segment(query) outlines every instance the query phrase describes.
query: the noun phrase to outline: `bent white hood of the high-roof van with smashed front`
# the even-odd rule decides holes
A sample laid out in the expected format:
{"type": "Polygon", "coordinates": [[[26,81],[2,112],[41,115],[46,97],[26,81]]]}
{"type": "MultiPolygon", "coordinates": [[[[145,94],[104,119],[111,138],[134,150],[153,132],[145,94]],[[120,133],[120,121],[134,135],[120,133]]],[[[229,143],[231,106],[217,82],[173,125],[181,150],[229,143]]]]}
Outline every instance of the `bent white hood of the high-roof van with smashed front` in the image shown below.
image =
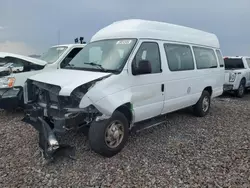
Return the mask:
{"type": "Polygon", "coordinates": [[[69,96],[78,86],[108,75],[111,73],[60,69],[39,73],[29,79],[60,86],[60,95],[69,96]]]}

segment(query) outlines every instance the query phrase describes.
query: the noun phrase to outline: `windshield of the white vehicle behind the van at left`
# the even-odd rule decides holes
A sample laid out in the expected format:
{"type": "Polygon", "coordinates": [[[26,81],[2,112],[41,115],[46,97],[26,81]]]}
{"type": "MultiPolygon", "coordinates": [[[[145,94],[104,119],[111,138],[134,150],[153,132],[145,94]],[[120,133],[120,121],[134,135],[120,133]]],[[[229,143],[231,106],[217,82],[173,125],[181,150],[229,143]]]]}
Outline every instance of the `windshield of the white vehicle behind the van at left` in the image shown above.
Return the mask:
{"type": "Polygon", "coordinates": [[[47,52],[41,55],[40,59],[48,63],[54,63],[59,59],[63,52],[67,49],[67,46],[52,47],[47,52]]]}

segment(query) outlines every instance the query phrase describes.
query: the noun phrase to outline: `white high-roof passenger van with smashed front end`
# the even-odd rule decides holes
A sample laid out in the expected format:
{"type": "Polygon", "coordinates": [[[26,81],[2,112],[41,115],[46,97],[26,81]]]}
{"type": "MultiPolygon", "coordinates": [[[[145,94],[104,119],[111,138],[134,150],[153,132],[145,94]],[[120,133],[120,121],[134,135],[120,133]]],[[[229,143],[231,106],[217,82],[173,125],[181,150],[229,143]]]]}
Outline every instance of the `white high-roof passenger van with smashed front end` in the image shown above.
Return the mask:
{"type": "Polygon", "coordinates": [[[64,69],[28,79],[23,121],[39,131],[48,158],[60,148],[55,133],[84,127],[90,147],[111,157],[133,127],[157,124],[162,115],[189,106],[205,116],[211,98],[223,92],[224,74],[214,34],[118,21],[98,31],[64,69]]]}

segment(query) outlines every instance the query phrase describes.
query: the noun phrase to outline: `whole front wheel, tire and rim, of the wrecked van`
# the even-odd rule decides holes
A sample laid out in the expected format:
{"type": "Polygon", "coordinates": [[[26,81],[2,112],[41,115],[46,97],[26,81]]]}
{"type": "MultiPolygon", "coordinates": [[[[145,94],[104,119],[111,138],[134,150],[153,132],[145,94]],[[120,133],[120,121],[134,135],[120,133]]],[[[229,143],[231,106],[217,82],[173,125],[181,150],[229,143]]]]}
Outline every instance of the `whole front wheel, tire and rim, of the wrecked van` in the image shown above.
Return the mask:
{"type": "Polygon", "coordinates": [[[89,128],[89,144],[93,151],[112,157],[119,153],[128,140],[129,124],[127,118],[119,111],[110,119],[93,122],[89,128]]]}

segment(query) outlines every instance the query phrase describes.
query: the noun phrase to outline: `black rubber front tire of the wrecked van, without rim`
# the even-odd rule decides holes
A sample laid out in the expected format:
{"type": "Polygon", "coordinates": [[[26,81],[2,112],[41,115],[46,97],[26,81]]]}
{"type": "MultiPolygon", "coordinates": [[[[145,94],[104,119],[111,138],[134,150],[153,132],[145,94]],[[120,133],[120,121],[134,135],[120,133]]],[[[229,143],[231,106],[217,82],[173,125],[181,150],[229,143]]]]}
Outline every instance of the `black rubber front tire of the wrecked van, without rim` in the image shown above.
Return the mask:
{"type": "Polygon", "coordinates": [[[117,153],[119,153],[124,148],[128,140],[128,133],[129,133],[129,123],[127,118],[121,112],[115,111],[110,119],[98,122],[94,121],[90,125],[89,128],[90,148],[94,152],[104,157],[112,157],[117,153]],[[124,134],[120,144],[115,148],[111,148],[106,143],[105,135],[107,128],[115,121],[119,121],[121,123],[121,125],[123,126],[124,134]]]}

